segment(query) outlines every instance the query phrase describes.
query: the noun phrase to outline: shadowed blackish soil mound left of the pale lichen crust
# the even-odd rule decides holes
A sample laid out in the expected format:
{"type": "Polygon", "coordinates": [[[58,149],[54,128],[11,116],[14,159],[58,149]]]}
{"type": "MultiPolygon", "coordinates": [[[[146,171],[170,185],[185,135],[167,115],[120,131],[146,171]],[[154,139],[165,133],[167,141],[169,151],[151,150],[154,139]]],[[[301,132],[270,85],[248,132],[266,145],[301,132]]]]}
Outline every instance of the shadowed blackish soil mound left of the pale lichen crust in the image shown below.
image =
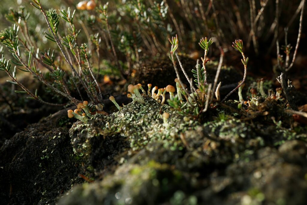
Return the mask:
{"type": "Polygon", "coordinates": [[[73,156],[68,128],[59,128],[66,111],[29,125],[0,149],[2,204],[53,203],[56,196],[80,182],[80,164],[73,156]]]}

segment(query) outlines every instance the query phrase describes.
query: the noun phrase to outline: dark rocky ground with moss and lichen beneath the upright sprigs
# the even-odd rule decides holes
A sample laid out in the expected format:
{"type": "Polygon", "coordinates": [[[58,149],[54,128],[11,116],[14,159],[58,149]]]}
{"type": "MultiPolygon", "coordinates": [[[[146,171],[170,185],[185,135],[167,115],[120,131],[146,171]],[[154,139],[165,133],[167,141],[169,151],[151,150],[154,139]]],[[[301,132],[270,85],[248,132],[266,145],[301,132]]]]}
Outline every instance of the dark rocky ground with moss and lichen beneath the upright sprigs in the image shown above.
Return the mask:
{"type": "MultiPolygon", "coordinates": [[[[154,81],[158,66],[150,68],[154,81]]],[[[238,81],[222,76],[223,85],[238,81]]],[[[233,100],[216,103],[201,120],[150,97],[117,99],[120,111],[106,103],[110,114],[87,123],[69,119],[69,108],[41,107],[18,126],[26,114],[6,106],[2,204],[306,204],[307,128],[285,111],[285,99],[257,97],[242,109],[233,100]]]]}

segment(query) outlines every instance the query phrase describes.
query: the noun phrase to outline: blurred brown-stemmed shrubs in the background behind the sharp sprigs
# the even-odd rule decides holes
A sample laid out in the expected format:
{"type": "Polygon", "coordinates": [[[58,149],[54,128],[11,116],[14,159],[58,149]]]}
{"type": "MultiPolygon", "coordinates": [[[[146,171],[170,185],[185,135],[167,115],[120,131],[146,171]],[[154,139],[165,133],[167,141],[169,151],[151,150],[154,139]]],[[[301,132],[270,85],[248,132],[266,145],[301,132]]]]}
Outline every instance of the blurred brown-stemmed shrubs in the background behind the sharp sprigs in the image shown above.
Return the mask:
{"type": "MultiPolygon", "coordinates": [[[[49,48],[51,51],[55,49],[56,65],[65,70],[67,65],[56,43],[45,37],[47,31],[45,19],[40,10],[31,6],[30,2],[32,1],[0,0],[0,30],[14,24],[7,18],[11,8],[16,12],[24,8],[30,14],[27,27],[37,48],[41,53],[45,53],[49,48]]],[[[72,11],[75,10],[79,2],[41,0],[46,11],[55,9],[58,15],[61,15],[60,10],[67,10],[68,7],[72,11]]],[[[96,9],[107,3],[106,0],[95,0],[95,2],[96,9]]],[[[296,44],[300,5],[301,0],[115,0],[109,1],[107,9],[111,39],[108,37],[106,21],[99,10],[77,10],[74,24],[76,30],[81,30],[78,37],[79,46],[82,43],[88,44],[90,62],[95,73],[100,74],[99,81],[102,81],[101,77],[106,74],[119,78],[121,66],[125,70],[124,74],[133,77],[134,65],[169,53],[168,38],[175,34],[178,34],[180,42],[178,51],[187,53],[193,59],[202,56],[202,50],[198,45],[199,39],[205,36],[212,37],[214,44],[208,54],[211,60],[220,57],[219,48],[222,48],[225,52],[224,64],[235,67],[238,65],[240,72],[242,72],[241,61],[238,59],[240,56],[231,47],[231,42],[242,39],[244,53],[250,56],[249,76],[265,76],[271,75],[276,65],[276,40],[278,39],[281,46],[286,44],[285,29],[288,30],[287,43],[293,47],[296,44]],[[276,18],[276,2],[278,2],[278,18],[276,18]],[[111,49],[111,41],[114,42],[119,64],[111,49]]],[[[304,18],[305,16],[304,14],[304,18]]],[[[306,44],[307,27],[304,24],[305,22],[298,50],[303,58],[298,56],[297,59],[304,59],[306,54],[303,45],[306,44]]],[[[61,18],[58,33],[61,37],[69,33],[69,24],[61,18]]],[[[2,53],[11,58],[6,48],[2,53]]],[[[38,58],[41,57],[41,53],[37,52],[38,58]]],[[[73,63],[77,67],[76,62],[73,63]]],[[[19,73],[22,72],[18,71],[17,75],[19,73]]]]}

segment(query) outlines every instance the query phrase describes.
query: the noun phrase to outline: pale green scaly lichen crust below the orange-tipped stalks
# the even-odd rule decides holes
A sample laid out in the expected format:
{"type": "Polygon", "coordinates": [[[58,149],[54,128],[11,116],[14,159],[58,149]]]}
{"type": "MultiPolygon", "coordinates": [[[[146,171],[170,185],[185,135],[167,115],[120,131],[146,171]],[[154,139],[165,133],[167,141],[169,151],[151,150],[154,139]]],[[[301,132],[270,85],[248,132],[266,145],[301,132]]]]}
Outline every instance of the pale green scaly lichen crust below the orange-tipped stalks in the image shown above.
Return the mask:
{"type": "Polygon", "coordinates": [[[179,146],[180,133],[194,129],[199,123],[151,97],[143,99],[144,104],[132,102],[110,115],[95,115],[87,124],[75,123],[70,130],[75,153],[79,156],[88,155],[91,152],[90,139],[93,137],[115,135],[126,138],[133,151],[156,140],[163,141],[170,149],[182,149],[181,143],[179,146]],[[169,113],[167,128],[163,125],[164,112],[169,113]]]}

